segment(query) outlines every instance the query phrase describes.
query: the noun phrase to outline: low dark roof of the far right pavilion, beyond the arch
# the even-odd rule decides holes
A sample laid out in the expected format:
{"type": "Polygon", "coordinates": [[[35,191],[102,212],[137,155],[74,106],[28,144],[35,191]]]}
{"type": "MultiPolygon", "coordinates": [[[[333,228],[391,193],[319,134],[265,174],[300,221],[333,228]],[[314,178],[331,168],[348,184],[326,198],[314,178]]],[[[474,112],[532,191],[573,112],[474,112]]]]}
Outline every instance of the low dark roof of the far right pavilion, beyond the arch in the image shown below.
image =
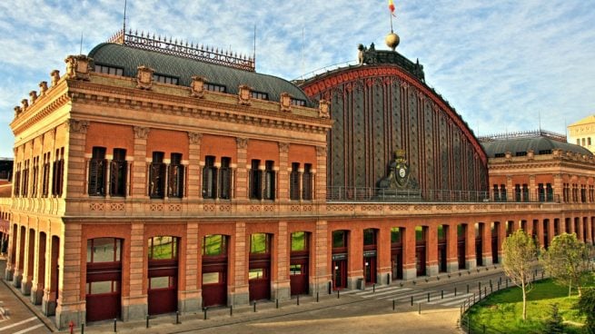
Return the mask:
{"type": "Polygon", "coordinates": [[[587,156],[593,155],[589,150],[579,145],[570,142],[560,142],[543,136],[481,142],[481,145],[483,145],[483,149],[490,158],[495,158],[496,154],[503,154],[506,152],[511,152],[512,156],[515,156],[517,152],[528,152],[529,150],[532,150],[537,155],[540,154],[540,152],[551,152],[556,149],[560,149],[564,152],[580,153],[587,156]]]}

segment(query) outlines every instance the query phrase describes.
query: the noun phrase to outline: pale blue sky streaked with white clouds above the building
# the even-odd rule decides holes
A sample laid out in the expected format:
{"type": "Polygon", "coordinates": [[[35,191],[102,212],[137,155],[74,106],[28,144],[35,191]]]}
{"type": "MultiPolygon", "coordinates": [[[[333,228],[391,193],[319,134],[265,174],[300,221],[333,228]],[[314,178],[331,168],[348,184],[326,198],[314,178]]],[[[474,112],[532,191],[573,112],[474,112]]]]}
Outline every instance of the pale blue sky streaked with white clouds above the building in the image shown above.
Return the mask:
{"type": "MultiPolygon", "coordinates": [[[[477,135],[566,133],[595,113],[592,0],[394,1],[397,51],[477,135]]],[[[0,2],[0,157],[12,157],[13,108],[122,28],[124,0],[0,2]],[[81,38],[81,36],[83,36],[81,38]],[[81,43],[82,39],[82,43],[81,43]]],[[[288,80],[386,49],[388,0],[127,0],[126,26],[253,54],[256,71],[288,80]]]]}

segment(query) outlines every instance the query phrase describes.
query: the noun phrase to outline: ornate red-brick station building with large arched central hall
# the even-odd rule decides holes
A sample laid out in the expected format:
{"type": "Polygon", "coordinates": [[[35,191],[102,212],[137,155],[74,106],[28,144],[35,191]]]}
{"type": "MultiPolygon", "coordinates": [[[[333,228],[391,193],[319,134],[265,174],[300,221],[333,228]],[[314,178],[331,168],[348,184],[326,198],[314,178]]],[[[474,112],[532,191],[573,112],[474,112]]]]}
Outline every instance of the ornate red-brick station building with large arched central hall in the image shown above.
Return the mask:
{"type": "Polygon", "coordinates": [[[15,107],[6,280],[64,329],[595,239],[593,155],[479,140],[421,64],[371,45],[298,87],[253,62],[124,32],[68,56],[15,107]]]}

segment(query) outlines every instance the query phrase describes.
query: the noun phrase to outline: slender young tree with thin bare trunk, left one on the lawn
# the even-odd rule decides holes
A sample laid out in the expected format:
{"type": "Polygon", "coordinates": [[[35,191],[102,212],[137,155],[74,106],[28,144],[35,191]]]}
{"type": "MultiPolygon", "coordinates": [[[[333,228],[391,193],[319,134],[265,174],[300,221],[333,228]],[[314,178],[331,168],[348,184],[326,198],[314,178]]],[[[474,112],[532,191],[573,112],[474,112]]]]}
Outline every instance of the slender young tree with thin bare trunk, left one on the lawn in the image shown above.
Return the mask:
{"type": "Polygon", "coordinates": [[[517,230],[502,242],[502,252],[504,273],[522,290],[522,319],[526,320],[531,264],[537,260],[537,247],[529,234],[517,230]]]}

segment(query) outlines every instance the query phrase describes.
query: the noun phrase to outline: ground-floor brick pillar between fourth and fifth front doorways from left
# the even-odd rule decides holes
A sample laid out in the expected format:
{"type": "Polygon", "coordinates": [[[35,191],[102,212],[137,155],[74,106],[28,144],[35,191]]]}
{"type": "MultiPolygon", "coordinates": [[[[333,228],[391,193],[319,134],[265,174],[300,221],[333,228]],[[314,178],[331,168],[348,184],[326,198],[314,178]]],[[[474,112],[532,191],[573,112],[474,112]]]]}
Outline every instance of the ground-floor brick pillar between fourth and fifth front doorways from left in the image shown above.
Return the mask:
{"type": "Polygon", "coordinates": [[[291,248],[289,238],[291,235],[287,233],[287,221],[279,221],[277,226],[279,229],[277,231],[277,235],[275,236],[277,241],[277,247],[275,250],[277,257],[277,275],[276,280],[272,281],[272,297],[273,299],[285,300],[291,298],[292,296],[289,280],[289,256],[291,248]]]}

